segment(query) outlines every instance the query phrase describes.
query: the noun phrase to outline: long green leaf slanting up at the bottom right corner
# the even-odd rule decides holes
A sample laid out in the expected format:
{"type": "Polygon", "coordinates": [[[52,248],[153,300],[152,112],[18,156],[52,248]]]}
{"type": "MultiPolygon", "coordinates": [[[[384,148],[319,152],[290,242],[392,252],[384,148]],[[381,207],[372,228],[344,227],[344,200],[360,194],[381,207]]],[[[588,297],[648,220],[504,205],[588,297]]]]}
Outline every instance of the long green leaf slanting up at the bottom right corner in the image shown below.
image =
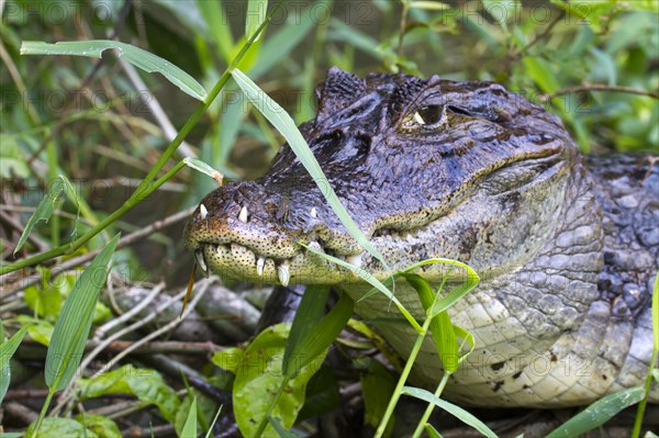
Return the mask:
{"type": "Polygon", "coordinates": [[[608,422],[624,408],[640,402],[644,395],[645,391],[639,386],[610,394],[554,429],[547,435],[547,438],[577,437],[593,430],[608,422]]]}

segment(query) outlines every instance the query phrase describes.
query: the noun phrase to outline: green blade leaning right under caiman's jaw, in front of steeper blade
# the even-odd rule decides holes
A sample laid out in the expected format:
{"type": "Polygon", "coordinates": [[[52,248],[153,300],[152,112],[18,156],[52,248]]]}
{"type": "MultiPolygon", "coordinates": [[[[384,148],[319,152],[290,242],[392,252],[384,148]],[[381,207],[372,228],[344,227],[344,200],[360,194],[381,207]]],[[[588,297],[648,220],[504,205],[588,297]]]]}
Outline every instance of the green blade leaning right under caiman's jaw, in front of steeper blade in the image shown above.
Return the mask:
{"type": "Polygon", "coordinates": [[[327,350],[340,330],[348,324],[354,306],[355,302],[344,293],[334,308],[306,333],[306,336],[290,355],[289,367],[284,372],[287,377],[293,378],[302,368],[327,350]]]}

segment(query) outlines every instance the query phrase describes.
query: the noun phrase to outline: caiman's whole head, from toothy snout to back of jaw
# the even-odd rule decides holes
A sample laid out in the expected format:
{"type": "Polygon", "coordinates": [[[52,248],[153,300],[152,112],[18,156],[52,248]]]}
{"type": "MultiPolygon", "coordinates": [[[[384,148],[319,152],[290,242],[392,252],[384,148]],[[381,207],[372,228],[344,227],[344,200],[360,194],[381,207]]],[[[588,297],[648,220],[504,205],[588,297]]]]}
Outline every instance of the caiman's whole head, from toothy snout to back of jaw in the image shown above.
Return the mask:
{"type": "Polygon", "coordinates": [[[319,113],[300,130],[326,180],[316,184],[283,145],[263,178],[208,194],[185,231],[204,271],[359,281],[304,244],[386,278],[330,209],[327,184],[391,268],[445,257],[481,276],[523,265],[569,202],[579,161],[561,122],[500,85],[332,68],[317,94],[319,113]]]}

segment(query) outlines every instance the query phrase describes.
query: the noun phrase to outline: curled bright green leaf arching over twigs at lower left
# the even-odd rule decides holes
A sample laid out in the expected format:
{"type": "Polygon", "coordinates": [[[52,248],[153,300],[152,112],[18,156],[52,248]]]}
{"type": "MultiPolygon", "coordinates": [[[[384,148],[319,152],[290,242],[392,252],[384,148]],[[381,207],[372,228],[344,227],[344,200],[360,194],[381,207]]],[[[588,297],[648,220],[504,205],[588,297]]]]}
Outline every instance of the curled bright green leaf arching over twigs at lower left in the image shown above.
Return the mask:
{"type": "Polygon", "coordinates": [[[154,370],[124,366],[114,371],[80,379],[80,397],[93,398],[107,394],[131,394],[144,403],[154,404],[168,422],[174,422],[179,398],[163,377],[154,370]]]}

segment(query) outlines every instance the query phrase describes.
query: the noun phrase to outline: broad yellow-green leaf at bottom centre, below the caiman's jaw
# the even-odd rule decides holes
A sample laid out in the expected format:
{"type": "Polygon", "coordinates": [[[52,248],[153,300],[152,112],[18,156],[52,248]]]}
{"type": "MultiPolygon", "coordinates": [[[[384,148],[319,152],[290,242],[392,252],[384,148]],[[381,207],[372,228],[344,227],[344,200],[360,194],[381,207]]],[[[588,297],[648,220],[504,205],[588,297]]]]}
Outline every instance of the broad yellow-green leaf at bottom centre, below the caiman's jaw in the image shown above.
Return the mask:
{"type": "MultiPolygon", "coordinates": [[[[265,418],[270,402],[276,398],[284,381],[281,360],[289,334],[289,324],[278,324],[266,328],[249,344],[241,366],[237,367],[233,389],[234,414],[241,433],[253,437],[261,419],[265,418]]],[[[323,362],[324,355],[299,370],[294,379],[288,381],[278,398],[272,417],[278,417],[284,428],[290,429],[304,405],[306,383],[323,362]]],[[[268,425],[264,436],[273,436],[268,425]]]]}

